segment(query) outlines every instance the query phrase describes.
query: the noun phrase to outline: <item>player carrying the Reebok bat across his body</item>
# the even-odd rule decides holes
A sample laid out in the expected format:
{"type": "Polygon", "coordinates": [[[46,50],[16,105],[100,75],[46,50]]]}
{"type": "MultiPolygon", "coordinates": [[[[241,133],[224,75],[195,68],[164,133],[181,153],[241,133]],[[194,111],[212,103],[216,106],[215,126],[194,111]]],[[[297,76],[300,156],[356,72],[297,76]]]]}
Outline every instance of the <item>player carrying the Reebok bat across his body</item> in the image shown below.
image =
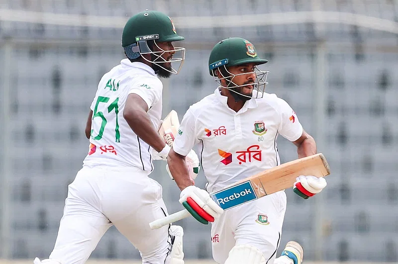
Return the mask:
{"type": "MultiPolygon", "coordinates": [[[[219,87],[188,109],[167,158],[182,190],[180,202],[199,222],[214,221],[212,252],[219,264],[301,264],[303,258],[301,246],[291,241],[276,259],[286,211],[285,191],[224,213],[205,195],[280,165],[278,134],[297,146],[298,158],[316,154],[314,139],[303,130],[289,104],[264,92],[268,72],[257,66],[265,63],[243,38],[217,43],[208,65],[219,87]],[[185,164],[185,156],[196,144],[208,180],[206,191],[192,185],[185,164]]],[[[324,178],[299,176],[294,190],[308,198],[325,186],[324,178]]]]}

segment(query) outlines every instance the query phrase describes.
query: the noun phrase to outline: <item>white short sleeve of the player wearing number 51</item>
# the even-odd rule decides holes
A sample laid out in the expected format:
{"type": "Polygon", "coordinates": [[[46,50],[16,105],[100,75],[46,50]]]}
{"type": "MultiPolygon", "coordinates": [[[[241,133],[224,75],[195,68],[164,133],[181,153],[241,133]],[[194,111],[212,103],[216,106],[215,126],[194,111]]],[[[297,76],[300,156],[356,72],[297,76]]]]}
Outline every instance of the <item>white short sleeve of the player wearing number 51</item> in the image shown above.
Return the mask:
{"type": "Polygon", "coordinates": [[[162,99],[162,90],[163,84],[158,78],[142,78],[132,84],[128,94],[138,94],[146,102],[149,109],[162,99]]]}

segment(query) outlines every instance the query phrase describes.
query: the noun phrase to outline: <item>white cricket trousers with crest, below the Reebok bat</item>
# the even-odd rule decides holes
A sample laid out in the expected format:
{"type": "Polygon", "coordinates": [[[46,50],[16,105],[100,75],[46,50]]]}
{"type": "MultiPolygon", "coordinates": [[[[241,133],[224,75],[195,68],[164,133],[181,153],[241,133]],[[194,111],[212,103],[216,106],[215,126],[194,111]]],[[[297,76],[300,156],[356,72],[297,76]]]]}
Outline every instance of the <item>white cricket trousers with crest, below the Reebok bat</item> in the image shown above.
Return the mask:
{"type": "Polygon", "coordinates": [[[286,193],[279,191],[228,209],[211,226],[213,259],[224,264],[235,245],[258,248],[267,264],[273,264],[282,235],[286,193]]]}

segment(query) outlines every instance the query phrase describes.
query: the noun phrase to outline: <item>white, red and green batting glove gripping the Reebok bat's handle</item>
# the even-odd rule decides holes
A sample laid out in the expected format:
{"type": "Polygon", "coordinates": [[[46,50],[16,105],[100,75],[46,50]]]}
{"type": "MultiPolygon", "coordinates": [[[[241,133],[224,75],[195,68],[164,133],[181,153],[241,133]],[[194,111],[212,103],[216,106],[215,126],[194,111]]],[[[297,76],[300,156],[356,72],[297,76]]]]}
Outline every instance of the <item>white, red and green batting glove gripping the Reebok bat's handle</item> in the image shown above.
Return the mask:
{"type": "Polygon", "coordinates": [[[194,185],[181,191],[179,201],[202,224],[214,222],[224,212],[207,191],[194,185]]]}

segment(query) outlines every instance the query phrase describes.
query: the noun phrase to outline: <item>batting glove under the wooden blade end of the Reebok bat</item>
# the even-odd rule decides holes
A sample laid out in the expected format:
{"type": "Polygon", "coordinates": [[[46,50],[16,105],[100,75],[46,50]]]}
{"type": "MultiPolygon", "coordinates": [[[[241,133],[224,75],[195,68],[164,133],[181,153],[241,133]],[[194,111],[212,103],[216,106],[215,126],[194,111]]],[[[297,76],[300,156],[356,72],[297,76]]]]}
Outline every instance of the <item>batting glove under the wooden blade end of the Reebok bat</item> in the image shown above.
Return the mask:
{"type": "Polygon", "coordinates": [[[327,185],[324,177],[298,176],[293,185],[293,191],[298,196],[308,199],[311,196],[321,192],[327,185]]]}

